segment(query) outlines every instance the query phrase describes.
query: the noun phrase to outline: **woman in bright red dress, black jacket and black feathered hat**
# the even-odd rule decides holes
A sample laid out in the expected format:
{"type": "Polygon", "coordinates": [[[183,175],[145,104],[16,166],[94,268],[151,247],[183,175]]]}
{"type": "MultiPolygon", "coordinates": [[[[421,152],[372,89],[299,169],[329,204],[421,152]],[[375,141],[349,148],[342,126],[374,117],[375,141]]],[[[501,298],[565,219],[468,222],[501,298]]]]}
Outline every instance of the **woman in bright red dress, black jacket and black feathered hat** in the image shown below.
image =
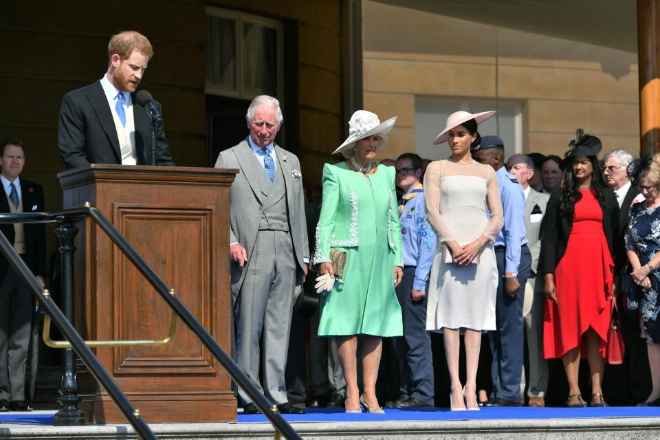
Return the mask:
{"type": "Polygon", "coordinates": [[[580,358],[587,358],[591,372],[591,406],[607,406],[601,384],[615,286],[619,203],[596,158],[600,140],[578,129],[569,145],[564,183],[550,195],[546,211],[543,352],[545,358],[562,358],[570,387],[566,406],[586,406],[577,385],[580,358]]]}

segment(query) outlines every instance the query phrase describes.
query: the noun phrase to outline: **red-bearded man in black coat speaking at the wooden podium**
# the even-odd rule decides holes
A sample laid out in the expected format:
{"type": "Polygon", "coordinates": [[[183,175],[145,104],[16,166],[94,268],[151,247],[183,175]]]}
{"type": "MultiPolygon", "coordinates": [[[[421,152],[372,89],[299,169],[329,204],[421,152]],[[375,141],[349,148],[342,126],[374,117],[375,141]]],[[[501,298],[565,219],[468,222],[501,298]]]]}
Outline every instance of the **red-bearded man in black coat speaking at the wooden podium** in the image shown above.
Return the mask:
{"type": "MultiPolygon", "coordinates": [[[[153,56],[146,36],[126,31],[108,44],[108,70],[62,99],[57,126],[60,153],[67,170],[86,164],[151,164],[151,119],[135,105],[135,90],[153,56]]],[[[160,113],[160,104],[153,102],[160,113]]],[[[162,118],[156,122],[155,160],[174,166],[162,118]]]]}

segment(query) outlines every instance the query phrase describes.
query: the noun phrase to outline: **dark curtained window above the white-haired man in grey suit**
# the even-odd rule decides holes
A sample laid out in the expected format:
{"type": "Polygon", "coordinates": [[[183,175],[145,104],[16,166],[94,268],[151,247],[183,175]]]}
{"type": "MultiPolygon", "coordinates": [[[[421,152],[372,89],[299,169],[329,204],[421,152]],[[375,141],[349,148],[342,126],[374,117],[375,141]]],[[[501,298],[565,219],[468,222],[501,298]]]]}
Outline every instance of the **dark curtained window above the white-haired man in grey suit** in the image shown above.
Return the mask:
{"type": "Polygon", "coordinates": [[[252,100],[283,96],[283,25],[206,8],[206,94],[252,100]]]}

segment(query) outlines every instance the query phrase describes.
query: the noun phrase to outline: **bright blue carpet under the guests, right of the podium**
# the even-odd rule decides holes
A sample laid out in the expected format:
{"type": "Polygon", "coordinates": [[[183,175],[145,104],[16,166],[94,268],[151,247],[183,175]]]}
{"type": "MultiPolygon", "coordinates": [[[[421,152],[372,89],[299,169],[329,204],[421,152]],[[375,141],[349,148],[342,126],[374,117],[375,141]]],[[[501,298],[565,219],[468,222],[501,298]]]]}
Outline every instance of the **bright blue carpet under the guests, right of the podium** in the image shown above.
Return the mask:
{"type": "MultiPolygon", "coordinates": [[[[287,421],[432,421],[477,419],[574,419],[591,417],[660,417],[660,407],[610,406],[608,408],[481,408],[450,411],[449,408],[389,409],[384,415],[347,414],[343,408],[307,408],[307,414],[285,414],[287,421]]],[[[242,415],[238,423],[268,420],[261,414],[242,415]]]]}

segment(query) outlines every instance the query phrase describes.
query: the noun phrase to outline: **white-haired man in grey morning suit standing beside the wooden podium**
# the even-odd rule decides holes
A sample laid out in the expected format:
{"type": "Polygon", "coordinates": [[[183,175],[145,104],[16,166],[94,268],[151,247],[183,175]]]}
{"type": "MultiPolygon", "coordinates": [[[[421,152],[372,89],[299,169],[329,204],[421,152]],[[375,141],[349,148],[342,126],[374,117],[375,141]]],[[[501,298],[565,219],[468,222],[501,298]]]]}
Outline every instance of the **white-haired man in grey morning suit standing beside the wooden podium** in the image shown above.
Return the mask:
{"type": "MultiPolygon", "coordinates": [[[[282,125],[278,100],[257,96],[245,119],[250,135],[215,163],[240,170],[230,191],[236,362],[257,386],[263,365],[265,396],[283,414],[302,414],[287,401],[284,378],[292,307],[309,263],[300,162],[274,142],[282,125]]],[[[239,397],[245,414],[259,412],[240,388],[239,397]]]]}

